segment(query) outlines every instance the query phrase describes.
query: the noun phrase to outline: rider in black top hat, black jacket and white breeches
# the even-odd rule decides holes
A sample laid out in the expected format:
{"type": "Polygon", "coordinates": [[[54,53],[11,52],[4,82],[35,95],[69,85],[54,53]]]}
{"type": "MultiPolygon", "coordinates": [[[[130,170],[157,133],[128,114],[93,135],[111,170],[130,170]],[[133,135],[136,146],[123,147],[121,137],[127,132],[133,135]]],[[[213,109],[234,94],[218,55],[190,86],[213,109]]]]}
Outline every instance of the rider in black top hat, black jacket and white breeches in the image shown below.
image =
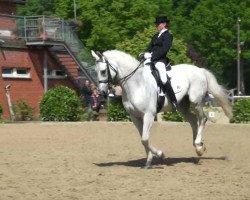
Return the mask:
{"type": "MultiPolygon", "coordinates": [[[[144,53],[144,58],[146,59],[145,64],[151,62],[155,64],[163,85],[163,91],[169,96],[173,110],[176,111],[177,99],[166,74],[166,67],[170,64],[167,53],[173,41],[173,36],[168,31],[169,22],[167,16],[156,17],[155,24],[158,33],[152,37],[146,53],[144,53]]],[[[163,96],[164,94],[161,93],[160,95],[163,96]]]]}

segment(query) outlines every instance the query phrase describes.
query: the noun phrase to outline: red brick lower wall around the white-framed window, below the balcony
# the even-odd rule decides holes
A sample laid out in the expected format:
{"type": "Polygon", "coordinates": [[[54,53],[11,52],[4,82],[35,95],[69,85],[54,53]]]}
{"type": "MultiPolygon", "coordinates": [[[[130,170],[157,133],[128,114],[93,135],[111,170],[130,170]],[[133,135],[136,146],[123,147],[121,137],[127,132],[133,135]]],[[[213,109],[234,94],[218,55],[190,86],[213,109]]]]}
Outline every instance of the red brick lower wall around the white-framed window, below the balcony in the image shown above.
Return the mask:
{"type": "MultiPolygon", "coordinates": [[[[39,102],[44,95],[43,88],[43,51],[40,49],[4,49],[3,57],[0,52],[0,104],[3,106],[3,117],[8,118],[8,105],[5,95],[5,86],[11,84],[12,103],[24,99],[31,107],[36,110],[35,116],[39,116],[39,102]],[[2,67],[25,67],[30,69],[30,79],[3,78],[2,67]]],[[[58,64],[49,56],[48,68],[59,68],[58,64]]],[[[49,89],[58,85],[65,85],[74,88],[68,79],[53,79],[49,81],[49,89]]]]}

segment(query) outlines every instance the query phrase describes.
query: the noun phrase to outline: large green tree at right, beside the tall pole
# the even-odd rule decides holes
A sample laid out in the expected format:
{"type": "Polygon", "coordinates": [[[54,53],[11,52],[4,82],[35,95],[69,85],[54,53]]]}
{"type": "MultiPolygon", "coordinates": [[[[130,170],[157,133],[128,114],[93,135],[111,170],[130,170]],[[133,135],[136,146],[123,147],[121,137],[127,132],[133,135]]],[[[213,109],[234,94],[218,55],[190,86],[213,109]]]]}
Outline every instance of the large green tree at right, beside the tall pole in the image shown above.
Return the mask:
{"type": "MultiPolygon", "coordinates": [[[[203,67],[212,70],[219,81],[229,87],[236,85],[236,20],[242,19],[241,36],[246,41],[249,40],[249,16],[247,1],[206,0],[197,4],[188,15],[189,20],[185,20],[184,39],[201,55],[203,67]]],[[[249,60],[249,49],[243,51],[243,60],[249,60]]]]}

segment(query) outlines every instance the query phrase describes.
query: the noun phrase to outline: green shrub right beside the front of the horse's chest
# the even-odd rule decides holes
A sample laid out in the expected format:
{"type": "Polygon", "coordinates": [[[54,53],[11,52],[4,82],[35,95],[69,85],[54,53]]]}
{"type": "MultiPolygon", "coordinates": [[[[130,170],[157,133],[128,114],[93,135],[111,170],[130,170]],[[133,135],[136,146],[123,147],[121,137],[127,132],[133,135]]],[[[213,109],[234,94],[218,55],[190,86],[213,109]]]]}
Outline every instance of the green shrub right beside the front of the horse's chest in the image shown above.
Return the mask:
{"type": "Polygon", "coordinates": [[[124,109],[121,97],[111,98],[108,102],[108,121],[131,121],[124,109]]]}

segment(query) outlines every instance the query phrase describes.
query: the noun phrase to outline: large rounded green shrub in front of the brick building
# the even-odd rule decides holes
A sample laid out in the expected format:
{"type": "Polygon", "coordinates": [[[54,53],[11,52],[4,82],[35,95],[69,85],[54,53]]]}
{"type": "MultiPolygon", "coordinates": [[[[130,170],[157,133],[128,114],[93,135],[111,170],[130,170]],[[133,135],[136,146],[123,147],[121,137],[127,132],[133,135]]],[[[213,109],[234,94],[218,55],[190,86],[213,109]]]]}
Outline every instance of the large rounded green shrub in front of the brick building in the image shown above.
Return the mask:
{"type": "Polygon", "coordinates": [[[40,102],[40,116],[44,121],[78,121],[81,113],[80,98],[65,86],[50,89],[40,102]]]}

